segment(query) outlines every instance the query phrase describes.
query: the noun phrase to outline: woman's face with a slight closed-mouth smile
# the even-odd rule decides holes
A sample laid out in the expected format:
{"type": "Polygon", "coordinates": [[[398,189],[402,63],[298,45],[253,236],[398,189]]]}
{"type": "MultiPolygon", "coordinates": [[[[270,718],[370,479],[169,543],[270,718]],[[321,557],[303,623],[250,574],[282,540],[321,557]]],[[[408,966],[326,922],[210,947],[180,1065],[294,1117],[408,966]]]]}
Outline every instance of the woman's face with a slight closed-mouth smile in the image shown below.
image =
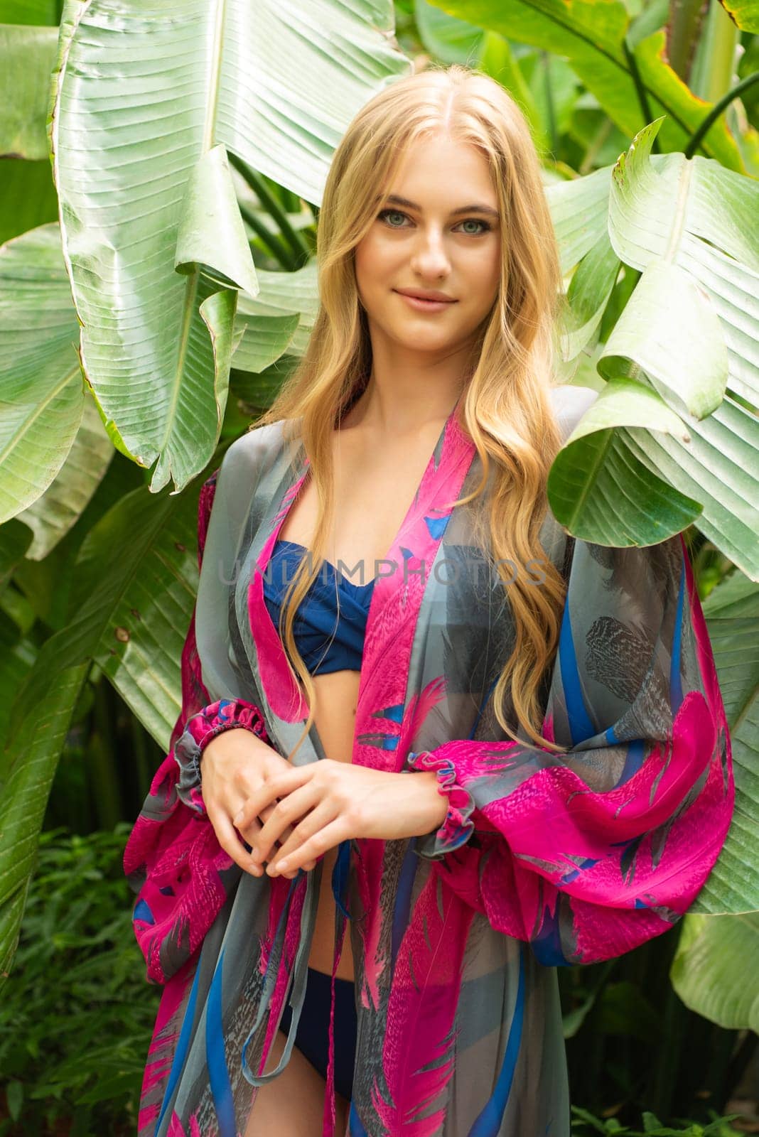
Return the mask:
{"type": "Polygon", "coordinates": [[[373,346],[448,355],[487,316],[501,275],[501,234],[487,161],[436,134],[408,148],[356,247],[356,282],[373,346]],[[444,302],[403,293],[433,291],[444,302]]]}

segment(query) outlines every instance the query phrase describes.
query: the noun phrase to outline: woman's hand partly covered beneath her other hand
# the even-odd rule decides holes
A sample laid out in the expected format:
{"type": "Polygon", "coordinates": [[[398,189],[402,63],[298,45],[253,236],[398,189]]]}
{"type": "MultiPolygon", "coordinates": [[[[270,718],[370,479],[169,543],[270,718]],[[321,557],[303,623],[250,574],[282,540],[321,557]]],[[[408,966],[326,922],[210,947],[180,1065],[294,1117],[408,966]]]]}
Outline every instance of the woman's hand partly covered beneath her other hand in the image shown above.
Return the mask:
{"type": "MultiPolygon", "coordinates": [[[[264,790],[273,779],[293,767],[262,739],[244,727],[239,727],[225,730],[210,740],[202,753],[200,769],[203,804],[219,845],[241,869],[260,877],[264,869],[245,852],[232,818],[252,794],[264,790]]],[[[249,821],[248,831],[253,838],[260,830],[261,822],[272,816],[276,808],[272,798],[268,800],[270,804],[249,821]]],[[[282,836],[290,836],[290,830],[282,836]]],[[[249,840],[248,844],[252,841],[249,840]]],[[[312,869],[315,864],[315,860],[308,861],[302,868],[312,869]]],[[[297,872],[295,869],[283,875],[292,879],[297,872]]]]}

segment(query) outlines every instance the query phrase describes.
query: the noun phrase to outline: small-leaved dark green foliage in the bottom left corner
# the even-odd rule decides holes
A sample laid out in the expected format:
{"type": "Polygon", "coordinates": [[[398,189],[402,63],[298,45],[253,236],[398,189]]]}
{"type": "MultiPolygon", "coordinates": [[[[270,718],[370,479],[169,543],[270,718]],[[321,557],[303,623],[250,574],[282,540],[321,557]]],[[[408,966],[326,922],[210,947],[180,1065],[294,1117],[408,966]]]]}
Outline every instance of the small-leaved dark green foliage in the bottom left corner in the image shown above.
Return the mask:
{"type": "Polygon", "coordinates": [[[136,1131],[159,991],[132,932],[128,829],[42,835],[0,1003],[0,1137],[136,1131]]]}

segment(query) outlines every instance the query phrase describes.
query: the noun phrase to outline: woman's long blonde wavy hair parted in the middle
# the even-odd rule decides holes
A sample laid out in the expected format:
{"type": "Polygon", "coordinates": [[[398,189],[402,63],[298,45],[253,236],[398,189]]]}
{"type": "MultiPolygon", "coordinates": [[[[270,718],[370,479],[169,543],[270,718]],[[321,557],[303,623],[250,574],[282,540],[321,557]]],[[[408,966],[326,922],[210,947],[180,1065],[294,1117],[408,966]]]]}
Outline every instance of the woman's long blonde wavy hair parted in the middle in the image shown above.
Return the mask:
{"type": "MultiPolygon", "coordinates": [[[[550,388],[556,385],[556,329],[561,274],[541,165],[527,123],[494,80],[469,67],[432,67],[393,82],[356,115],[335,150],[318,221],[320,306],[305,355],[273,406],[251,430],[285,420],[286,438],[308,456],[317,492],[312,556],[303,557],[283,599],[280,634],[294,664],[314,721],[315,687],[293,636],[295,612],[322,571],[334,509],[331,437],[365,389],[372,367],[366,315],[359,302],[353,250],[374,223],[407,147],[443,132],[472,143],[490,165],[501,214],[501,280],[493,308],[477,330],[459,425],[482,462],[476,489],[489,488],[484,508],[473,509],[482,543],[503,580],[510,601],[514,652],[495,684],[494,713],[511,738],[509,705],[539,746],[562,747],[541,735],[541,694],[556,655],[566,592],[545,556],[540,529],[545,487],[561,446],[550,388]],[[486,526],[486,529],[485,529],[486,526]],[[487,546],[490,542],[490,548],[487,546]],[[523,572],[511,580],[507,562],[543,562],[544,584],[523,572]]],[[[516,724],[515,724],[516,725],[516,724]]],[[[294,750],[293,750],[294,753],[294,750]]]]}

